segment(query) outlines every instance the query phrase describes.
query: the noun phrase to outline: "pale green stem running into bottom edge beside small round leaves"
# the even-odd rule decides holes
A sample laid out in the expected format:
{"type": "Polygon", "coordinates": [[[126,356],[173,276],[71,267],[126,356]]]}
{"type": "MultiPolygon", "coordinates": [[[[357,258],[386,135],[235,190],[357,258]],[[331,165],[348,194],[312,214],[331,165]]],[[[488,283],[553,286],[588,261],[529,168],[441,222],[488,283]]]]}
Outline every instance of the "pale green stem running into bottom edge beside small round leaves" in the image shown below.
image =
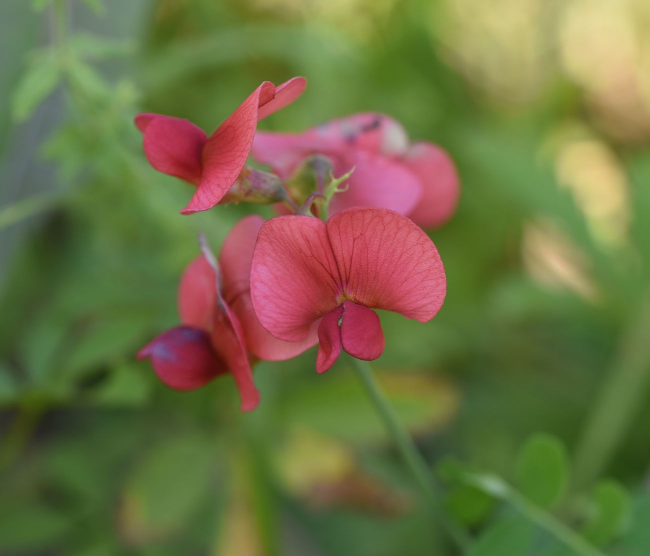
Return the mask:
{"type": "Polygon", "coordinates": [[[480,473],[463,473],[465,483],[509,503],[515,510],[526,516],[531,522],[554,536],[558,541],[571,549],[577,556],[605,556],[599,549],[591,546],[582,536],[564,523],[556,520],[552,514],[545,512],[530,502],[523,494],[512,488],[496,475],[480,473]]]}

